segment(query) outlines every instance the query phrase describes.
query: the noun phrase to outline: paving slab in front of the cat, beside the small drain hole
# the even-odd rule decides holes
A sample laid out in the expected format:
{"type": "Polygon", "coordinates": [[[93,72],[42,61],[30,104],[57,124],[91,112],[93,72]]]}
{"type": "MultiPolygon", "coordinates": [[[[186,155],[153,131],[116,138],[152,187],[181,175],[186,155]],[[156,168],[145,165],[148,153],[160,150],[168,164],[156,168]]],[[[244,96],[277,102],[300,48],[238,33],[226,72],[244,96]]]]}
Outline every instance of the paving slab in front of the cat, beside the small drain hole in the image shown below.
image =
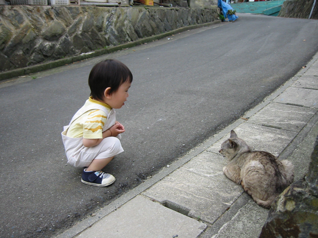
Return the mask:
{"type": "Polygon", "coordinates": [[[161,203],[169,201],[188,210],[188,216],[213,223],[238,198],[243,189],[227,179],[220,155],[203,152],[143,195],[161,203]]]}

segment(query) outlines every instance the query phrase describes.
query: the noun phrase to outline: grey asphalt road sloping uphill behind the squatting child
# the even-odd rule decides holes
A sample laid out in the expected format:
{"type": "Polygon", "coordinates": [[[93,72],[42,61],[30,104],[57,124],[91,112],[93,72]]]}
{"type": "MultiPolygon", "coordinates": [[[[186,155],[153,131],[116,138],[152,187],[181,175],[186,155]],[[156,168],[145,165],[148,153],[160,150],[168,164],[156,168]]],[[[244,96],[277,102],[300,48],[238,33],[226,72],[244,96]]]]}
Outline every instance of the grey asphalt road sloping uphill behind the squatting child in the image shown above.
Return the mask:
{"type": "Polygon", "coordinates": [[[317,20],[239,17],[0,83],[0,237],[61,233],[243,116],[318,51],[317,20]],[[125,151],[104,168],[116,181],[98,188],[67,165],[60,133],[106,58],[134,81],[116,110],[125,151]]]}

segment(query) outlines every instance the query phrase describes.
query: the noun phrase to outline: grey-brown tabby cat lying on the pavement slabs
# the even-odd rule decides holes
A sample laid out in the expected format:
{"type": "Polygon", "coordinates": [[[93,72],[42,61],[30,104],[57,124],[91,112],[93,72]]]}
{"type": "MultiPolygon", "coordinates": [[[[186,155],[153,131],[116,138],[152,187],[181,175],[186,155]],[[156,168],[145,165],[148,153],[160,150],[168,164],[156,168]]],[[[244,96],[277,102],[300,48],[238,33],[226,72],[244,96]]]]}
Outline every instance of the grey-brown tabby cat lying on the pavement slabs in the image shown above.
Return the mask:
{"type": "Polygon", "coordinates": [[[241,184],[260,206],[270,208],[274,199],[294,181],[294,166],[288,160],[278,160],[269,152],[252,151],[247,143],[231,130],[220,154],[229,160],[223,172],[228,179],[241,184]]]}

